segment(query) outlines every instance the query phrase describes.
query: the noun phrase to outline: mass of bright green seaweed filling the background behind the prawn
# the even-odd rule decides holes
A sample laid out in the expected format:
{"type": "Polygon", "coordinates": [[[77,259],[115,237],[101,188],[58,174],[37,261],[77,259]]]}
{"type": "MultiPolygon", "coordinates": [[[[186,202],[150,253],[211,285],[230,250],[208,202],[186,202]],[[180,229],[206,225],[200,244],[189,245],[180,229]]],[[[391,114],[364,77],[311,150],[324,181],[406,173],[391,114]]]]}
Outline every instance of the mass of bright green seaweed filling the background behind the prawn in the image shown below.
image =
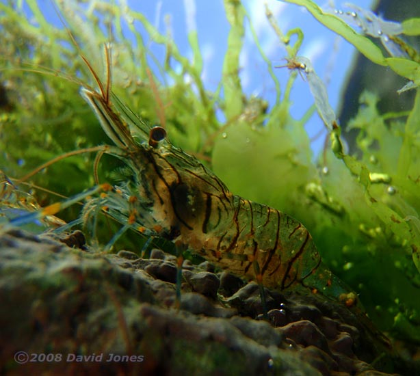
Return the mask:
{"type": "MultiPolygon", "coordinates": [[[[313,1],[287,2],[305,6],[372,62],[419,85],[419,62],[385,57],[373,41],[313,1]]],[[[0,108],[0,170],[16,178],[58,155],[109,143],[79,96],[81,83],[93,85],[78,57],[80,51],[66,29],[44,18],[40,3],[26,4],[30,18],[23,2],[0,3],[0,82],[10,102],[0,108]]],[[[292,118],[289,94],[296,72],[280,91],[256,37],[276,86],[276,103],[268,109],[264,98],[247,97],[241,88],[239,54],[249,17],[240,1],[224,1],[231,29],[215,92],[208,92],[200,78],[203,63],[196,31],[188,33],[193,51],[189,60],[170,35],[159,33],[140,12],[94,0],[88,5],[63,4],[57,3],[57,8],[103,81],[103,44],[112,40],[113,90],[123,102],[150,123],[166,122],[172,143],[202,159],[233,193],[301,221],[324,262],[360,294],[371,319],[382,330],[394,330],[395,335],[418,343],[420,302],[414,297],[420,292],[419,89],[410,113],[380,113],[380,98],[365,92],[349,124],[359,130],[358,157],[345,153],[339,129],[334,129],[332,147],[314,161],[304,129],[314,107],[302,119],[292,118]],[[134,37],[133,46],[124,38],[123,24],[134,37]],[[145,32],[137,31],[136,25],[145,32]],[[147,38],[166,51],[163,61],[150,51],[147,38]],[[224,120],[218,120],[217,108],[224,120]]],[[[267,27],[274,28],[288,57],[296,57],[303,42],[302,31],[296,29],[299,21],[282,31],[269,10],[267,18],[267,27]],[[298,36],[293,45],[292,35],[298,36]]],[[[418,18],[402,26],[406,35],[419,35],[418,18]]],[[[94,158],[90,154],[62,159],[29,181],[73,196],[95,184],[94,158]]],[[[101,182],[122,178],[120,167],[119,161],[103,157],[101,182]]],[[[42,191],[36,196],[42,205],[57,200],[42,191]]],[[[79,211],[77,207],[67,219],[75,219],[79,211]]],[[[109,238],[99,241],[107,243],[109,238]]]]}

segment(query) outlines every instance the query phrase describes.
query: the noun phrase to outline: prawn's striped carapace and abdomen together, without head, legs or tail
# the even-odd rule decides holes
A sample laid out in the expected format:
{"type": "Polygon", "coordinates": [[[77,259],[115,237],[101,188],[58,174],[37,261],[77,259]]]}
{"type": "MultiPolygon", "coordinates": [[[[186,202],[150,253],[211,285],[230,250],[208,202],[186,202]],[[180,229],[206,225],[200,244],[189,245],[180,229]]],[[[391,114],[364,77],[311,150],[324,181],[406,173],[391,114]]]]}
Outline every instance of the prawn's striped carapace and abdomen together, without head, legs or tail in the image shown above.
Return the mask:
{"type": "Polygon", "coordinates": [[[158,235],[237,276],[255,278],[258,263],[267,287],[287,288],[319,266],[311,235],[289,215],[233,196],[217,176],[180,150],[141,154],[140,196],[153,202],[158,235]]]}

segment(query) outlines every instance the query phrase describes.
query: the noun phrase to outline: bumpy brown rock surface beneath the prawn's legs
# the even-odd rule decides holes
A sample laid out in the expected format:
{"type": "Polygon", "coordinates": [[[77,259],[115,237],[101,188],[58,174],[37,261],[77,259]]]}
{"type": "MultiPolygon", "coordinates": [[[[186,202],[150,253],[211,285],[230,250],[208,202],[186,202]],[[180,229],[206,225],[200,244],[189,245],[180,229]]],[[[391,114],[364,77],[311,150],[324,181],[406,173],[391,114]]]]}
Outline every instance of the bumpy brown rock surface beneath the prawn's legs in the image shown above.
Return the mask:
{"type": "Polygon", "coordinates": [[[185,263],[179,304],[174,256],[160,250],[101,254],[80,232],[3,230],[0,373],[384,375],[372,362],[390,371],[379,360],[387,350],[340,304],[266,290],[263,321],[257,284],[209,270],[185,263]]]}

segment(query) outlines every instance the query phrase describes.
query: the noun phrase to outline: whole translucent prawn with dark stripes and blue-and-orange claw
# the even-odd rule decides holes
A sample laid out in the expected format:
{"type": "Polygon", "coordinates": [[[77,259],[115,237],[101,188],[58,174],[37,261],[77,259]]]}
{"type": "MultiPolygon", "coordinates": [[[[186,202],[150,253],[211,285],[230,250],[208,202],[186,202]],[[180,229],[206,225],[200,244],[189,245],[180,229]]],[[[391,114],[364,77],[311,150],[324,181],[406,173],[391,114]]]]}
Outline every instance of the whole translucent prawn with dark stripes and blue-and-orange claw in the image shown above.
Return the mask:
{"type": "MultiPolygon", "coordinates": [[[[109,64],[109,48],[105,48],[109,64]]],[[[172,241],[207,260],[268,288],[303,288],[356,304],[356,294],[321,262],[309,231],[291,216],[235,196],[196,157],[174,146],[161,126],[149,126],[104,85],[88,60],[99,90],[81,88],[114,146],[101,152],[122,159],[125,183],[98,185],[86,192],[10,221],[26,224],[89,197],[83,211],[105,211],[123,226],[172,241]],[[97,195],[97,193],[101,193],[97,195]],[[97,197],[91,198],[96,194],[97,197]]]]}

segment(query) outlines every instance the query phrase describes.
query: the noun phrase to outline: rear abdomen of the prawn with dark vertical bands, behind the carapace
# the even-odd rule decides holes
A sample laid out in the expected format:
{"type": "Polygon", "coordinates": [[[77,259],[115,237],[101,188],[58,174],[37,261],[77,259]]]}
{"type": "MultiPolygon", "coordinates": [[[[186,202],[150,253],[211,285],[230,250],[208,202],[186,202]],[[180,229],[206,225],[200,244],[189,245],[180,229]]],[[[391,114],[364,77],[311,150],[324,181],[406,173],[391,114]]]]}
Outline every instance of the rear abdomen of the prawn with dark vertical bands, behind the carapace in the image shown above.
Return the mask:
{"type": "MultiPolygon", "coordinates": [[[[195,252],[248,279],[255,278],[257,263],[263,285],[281,289],[301,282],[319,266],[311,235],[298,221],[239,196],[233,196],[233,206],[229,220],[213,230],[204,232],[205,226],[198,226],[183,235],[197,245],[195,252]]],[[[218,213],[217,205],[213,211],[218,213]]]]}

